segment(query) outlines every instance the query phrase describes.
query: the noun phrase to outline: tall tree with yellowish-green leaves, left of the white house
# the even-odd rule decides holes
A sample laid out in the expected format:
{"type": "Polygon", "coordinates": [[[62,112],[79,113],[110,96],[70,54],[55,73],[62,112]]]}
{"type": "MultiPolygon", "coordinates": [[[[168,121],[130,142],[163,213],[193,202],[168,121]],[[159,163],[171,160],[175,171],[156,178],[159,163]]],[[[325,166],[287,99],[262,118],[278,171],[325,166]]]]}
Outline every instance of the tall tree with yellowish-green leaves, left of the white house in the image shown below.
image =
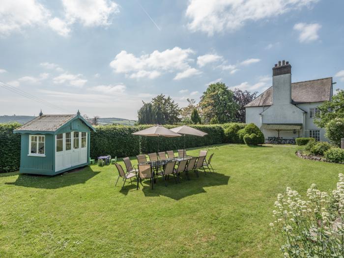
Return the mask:
{"type": "Polygon", "coordinates": [[[215,115],[219,123],[235,121],[235,113],[239,108],[234,101],[233,91],[224,83],[210,84],[203,92],[199,105],[206,123],[215,115]]]}

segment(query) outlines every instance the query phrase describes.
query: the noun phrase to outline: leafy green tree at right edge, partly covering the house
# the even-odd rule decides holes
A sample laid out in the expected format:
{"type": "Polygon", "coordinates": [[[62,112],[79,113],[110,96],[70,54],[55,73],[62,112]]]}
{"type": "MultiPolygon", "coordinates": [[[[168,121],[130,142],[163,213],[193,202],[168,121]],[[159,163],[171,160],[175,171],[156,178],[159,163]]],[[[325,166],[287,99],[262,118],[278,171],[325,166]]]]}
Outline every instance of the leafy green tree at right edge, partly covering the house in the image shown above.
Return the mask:
{"type": "Polygon", "coordinates": [[[344,118],[344,90],[338,90],[332,100],[322,103],[318,110],[320,113],[316,114],[314,123],[321,128],[335,118],[344,118]]]}

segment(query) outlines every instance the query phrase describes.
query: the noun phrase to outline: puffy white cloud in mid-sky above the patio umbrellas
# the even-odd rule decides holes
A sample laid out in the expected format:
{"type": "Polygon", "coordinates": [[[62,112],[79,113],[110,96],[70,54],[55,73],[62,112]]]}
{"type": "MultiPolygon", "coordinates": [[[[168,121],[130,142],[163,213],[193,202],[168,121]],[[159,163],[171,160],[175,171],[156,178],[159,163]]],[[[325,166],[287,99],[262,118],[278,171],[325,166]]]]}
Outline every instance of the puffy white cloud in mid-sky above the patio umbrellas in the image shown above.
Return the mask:
{"type": "Polygon", "coordinates": [[[194,54],[193,50],[179,47],[167,49],[163,52],[155,50],[151,54],[140,57],[123,50],[111,61],[110,66],[115,73],[123,73],[129,78],[154,79],[165,72],[190,69],[189,63],[193,61],[190,58],[192,54],[194,54]]]}

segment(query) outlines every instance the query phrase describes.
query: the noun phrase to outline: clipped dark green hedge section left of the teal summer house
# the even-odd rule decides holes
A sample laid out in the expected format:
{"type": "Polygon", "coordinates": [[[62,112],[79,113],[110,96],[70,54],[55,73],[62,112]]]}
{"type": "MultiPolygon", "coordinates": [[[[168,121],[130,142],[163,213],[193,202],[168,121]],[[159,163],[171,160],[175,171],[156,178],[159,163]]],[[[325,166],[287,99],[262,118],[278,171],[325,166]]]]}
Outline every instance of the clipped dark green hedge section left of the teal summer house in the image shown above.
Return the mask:
{"type": "Polygon", "coordinates": [[[0,124],[0,172],[19,170],[20,134],[13,130],[21,124],[17,122],[0,124]]]}

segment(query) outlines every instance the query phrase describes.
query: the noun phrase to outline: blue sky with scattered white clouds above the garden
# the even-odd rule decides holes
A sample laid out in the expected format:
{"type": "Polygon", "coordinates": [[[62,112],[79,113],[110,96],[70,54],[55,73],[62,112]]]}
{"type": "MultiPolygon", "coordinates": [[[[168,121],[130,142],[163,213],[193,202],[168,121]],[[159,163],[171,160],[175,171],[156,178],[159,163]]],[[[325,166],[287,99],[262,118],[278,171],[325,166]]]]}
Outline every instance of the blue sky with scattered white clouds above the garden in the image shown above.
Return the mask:
{"type": "Polygon", "coordinates": [[[292,82],[344,89],[343,0],[1,0],[0,115],[137,119],[213,82],[263,92],[278,60],[292,82]]]}

